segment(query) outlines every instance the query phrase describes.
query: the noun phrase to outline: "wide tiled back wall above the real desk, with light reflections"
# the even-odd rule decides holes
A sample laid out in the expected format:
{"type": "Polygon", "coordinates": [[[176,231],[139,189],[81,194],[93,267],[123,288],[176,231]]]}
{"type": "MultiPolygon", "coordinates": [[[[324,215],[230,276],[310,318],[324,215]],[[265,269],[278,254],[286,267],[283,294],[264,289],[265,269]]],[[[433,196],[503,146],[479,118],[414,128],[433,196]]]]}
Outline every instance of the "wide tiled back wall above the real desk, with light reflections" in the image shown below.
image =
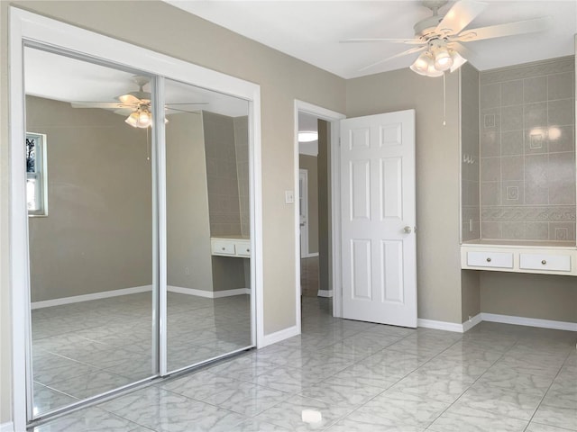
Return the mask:
{"type": "Polygon", "coordinates": [[[574,65],[480,73],[482,238],[575,239],[574,65]]]}

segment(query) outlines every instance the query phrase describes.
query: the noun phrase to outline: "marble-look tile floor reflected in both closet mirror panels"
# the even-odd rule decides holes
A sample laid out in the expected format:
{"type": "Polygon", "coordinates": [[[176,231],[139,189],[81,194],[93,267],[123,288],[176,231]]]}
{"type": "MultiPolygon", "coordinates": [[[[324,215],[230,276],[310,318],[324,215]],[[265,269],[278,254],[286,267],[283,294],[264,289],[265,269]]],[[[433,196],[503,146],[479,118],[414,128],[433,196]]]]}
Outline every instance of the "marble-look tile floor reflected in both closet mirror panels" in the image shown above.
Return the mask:
{"type": "MultiPolygon", "coordinates": [[[[248,295],[167,300],[169,370],[251,345],[248,295]]],[[[32,311],[36,415],[152,376],[151,311],[151,293],[32,311]]]]}

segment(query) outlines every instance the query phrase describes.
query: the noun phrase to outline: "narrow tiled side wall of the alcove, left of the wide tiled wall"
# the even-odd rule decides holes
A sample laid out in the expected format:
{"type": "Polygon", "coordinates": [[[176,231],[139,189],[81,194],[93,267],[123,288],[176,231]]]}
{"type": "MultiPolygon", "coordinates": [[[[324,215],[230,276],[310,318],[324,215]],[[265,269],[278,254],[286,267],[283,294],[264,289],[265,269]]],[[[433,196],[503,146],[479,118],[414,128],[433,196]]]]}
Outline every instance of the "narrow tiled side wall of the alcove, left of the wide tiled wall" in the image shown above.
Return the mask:
{"type": "Polygon", "coordinates": [[[479,202],[479,71],[461,67],[461,195],[463,241],[480,238],[479,202]]]}

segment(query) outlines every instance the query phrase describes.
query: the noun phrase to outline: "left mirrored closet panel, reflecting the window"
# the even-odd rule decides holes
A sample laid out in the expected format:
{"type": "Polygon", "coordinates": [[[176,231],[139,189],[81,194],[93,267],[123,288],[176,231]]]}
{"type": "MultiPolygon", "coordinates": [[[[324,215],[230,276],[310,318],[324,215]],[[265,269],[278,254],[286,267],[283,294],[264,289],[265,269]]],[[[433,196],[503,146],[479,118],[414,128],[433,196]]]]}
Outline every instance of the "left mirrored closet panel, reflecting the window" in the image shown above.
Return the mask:
{"type": "Polygon", "coordinates": [[[37,418],[157,374],[151,133],[124,121],[151,78],[29,47],[24,66],[37,418]]]}

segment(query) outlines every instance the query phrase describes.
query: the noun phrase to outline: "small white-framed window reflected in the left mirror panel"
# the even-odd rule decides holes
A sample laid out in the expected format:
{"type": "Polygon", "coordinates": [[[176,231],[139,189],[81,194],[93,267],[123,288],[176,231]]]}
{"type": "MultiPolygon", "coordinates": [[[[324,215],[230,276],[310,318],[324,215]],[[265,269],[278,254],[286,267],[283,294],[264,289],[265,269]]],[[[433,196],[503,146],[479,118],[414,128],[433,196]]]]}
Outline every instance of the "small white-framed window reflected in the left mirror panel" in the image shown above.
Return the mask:
{"type": "Polygon", "coordinates": [[[28,214],[47,214],[46,135],[26,132],[26,201],[28,214]]]}

